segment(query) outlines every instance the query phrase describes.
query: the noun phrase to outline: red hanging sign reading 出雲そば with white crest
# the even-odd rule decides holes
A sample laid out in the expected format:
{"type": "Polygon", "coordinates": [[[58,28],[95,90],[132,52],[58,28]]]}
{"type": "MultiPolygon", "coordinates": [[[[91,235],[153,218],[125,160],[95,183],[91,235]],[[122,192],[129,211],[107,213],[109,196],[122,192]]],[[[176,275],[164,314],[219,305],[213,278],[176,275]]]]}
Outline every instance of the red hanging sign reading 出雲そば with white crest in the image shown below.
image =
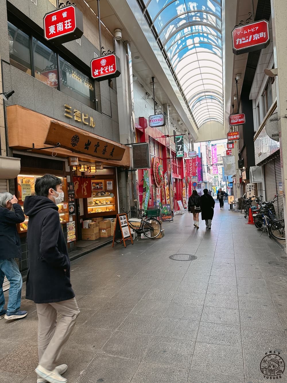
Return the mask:
{"type": "Polygon", "coordinates": [[[113,53],[91,61],[91,76],[97,81],[113,79],[120,74],[119,58],[113,53]]]}

